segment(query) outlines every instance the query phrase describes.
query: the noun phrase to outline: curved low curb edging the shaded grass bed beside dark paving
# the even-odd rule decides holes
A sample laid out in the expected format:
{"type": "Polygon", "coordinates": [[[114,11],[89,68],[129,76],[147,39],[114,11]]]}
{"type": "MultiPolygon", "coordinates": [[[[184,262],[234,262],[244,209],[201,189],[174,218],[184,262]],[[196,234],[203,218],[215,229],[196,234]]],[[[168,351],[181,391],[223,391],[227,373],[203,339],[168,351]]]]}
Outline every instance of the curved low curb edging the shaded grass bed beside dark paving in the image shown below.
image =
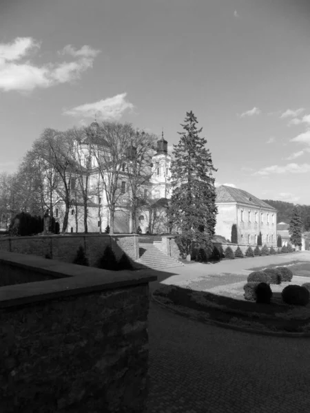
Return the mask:
{"type": "Polygon", "coordinates": [[[185,310],[179,310],[178,308],[174,308],[174,307],[168,306],[167,304],[162,303],[161,301],[159,301],[158,299],[154,297],[154,293],[152,293],[150,297],[155,304],[157,304],[158,306],[161,306],[162,308],[165,308],[165,310],[168,310],[172,313],[176,313],[177,315],[180,315],[182,317],[187,317],[194,321],[199,321],[200,323],[210,324],[211,326],[218,326],[218,327],[228,328],[229,330],[236,330],[236,331],[241,331],[241,332],[248,332],[250,334],[267,335],[267,336],[274,336],[274,337],[291,337],[294,339],[310,337],[310,332],[273,332],[273,331],[269,332],[265,330],[256,330],[254,328],[233,326],[231,324],[222,323],[220,321],[215,321],[215,320],[210,320],[210,319],[201,319],[199,317],[199,314],[201,314],[201,312],[198,310],[195,310],[197,311],[198,315],[192,315],[186,312],[186,307],[183,307],[185,310]]]}

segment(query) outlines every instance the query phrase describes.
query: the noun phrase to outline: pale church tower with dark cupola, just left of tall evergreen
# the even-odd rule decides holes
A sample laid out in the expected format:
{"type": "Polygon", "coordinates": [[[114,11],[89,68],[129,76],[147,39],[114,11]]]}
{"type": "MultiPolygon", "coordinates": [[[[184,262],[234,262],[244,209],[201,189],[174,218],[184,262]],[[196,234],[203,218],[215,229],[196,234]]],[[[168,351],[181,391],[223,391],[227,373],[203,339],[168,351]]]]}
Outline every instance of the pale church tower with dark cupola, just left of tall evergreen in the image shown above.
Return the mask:
{"type": "Polygon", "coordinates": [[[158,200],[160,198],[169,199],[170,181],[171,181],[171,166],[172,157],[168,153],[168,142],[161,134],[161,139],[157,141],[157,151],[152,157],[152,198],[158,200]]]}

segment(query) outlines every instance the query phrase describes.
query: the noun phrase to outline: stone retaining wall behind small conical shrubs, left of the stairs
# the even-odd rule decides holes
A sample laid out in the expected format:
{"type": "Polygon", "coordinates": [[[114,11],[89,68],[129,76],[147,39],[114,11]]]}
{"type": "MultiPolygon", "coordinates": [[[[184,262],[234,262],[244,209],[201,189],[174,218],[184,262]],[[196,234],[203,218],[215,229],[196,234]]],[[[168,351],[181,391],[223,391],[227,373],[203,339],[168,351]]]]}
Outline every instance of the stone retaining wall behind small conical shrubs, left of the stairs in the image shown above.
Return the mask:
{"type": "Polygon", "coordinates": [[[35,235],[32,237],[1,237],[0,251],[33,254],[39,257],[50,255],[54,260],[72,262],[76,250],[83,246],[90,266],[96,266],[105,247],[110,245],[116,258],[125,252],[133,261],[138,260],[138,235],[35,235]]]}

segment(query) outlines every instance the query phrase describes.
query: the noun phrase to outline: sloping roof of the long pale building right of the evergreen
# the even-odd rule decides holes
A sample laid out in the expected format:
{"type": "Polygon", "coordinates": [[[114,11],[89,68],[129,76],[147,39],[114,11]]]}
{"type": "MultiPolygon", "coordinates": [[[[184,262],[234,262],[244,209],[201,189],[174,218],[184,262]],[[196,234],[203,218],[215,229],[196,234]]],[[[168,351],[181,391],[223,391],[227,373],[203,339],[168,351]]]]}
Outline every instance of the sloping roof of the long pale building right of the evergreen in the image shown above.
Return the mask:
{"type": "Polygon", "coordinates": [[[251,207],[260,207],[265,209],[272,209],[276,211],[276,208],[266,202],[256,198],[243,189],[227,187],[227,185],[220,185],[216,188],[216,202],[240,202],[241,204],[248,204],[251,207]]]}

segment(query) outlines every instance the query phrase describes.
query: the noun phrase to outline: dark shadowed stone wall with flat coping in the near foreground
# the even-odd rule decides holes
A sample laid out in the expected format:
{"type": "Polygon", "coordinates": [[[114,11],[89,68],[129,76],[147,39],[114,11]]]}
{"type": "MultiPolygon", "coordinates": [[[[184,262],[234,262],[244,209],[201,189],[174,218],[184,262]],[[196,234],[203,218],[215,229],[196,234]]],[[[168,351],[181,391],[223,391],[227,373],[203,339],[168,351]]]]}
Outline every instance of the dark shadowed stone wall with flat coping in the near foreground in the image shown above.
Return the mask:
{"type": "Polygon", "coordinates": [[[4,264],[51,279],[0,287],[0,412],[145,413],[156,277],[0,252],[0,278],[4,264]]]}

